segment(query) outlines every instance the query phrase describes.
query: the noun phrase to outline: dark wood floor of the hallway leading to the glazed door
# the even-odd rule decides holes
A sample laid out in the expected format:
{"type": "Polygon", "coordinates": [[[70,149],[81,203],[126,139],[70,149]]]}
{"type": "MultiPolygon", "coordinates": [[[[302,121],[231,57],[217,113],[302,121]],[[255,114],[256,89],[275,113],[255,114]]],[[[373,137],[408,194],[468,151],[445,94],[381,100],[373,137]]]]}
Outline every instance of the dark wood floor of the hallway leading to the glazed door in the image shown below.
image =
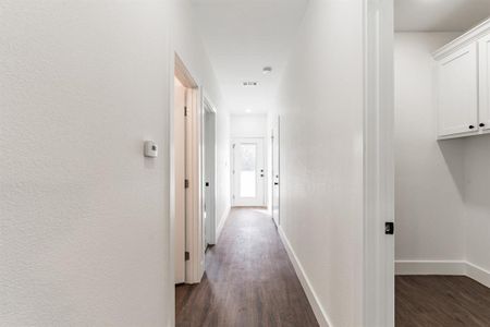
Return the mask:
{"type": "Polygon", "coordinates": [[[272,219],[234,209],[199,284],[175,288],[176,326],[318,326],[272,219]]]}

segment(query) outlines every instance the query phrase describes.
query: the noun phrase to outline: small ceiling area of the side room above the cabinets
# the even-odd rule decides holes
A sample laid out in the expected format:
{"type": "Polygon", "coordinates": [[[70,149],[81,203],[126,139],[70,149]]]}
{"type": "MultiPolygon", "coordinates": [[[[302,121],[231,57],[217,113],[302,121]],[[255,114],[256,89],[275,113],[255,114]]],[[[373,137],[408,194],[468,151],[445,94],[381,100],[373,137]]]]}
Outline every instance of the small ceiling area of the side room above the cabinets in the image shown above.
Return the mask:
{"type": "Polygon", "coordinates": [[[490,0],[395,0],[400,32],[465,32],[490,16],[490,0]]]}

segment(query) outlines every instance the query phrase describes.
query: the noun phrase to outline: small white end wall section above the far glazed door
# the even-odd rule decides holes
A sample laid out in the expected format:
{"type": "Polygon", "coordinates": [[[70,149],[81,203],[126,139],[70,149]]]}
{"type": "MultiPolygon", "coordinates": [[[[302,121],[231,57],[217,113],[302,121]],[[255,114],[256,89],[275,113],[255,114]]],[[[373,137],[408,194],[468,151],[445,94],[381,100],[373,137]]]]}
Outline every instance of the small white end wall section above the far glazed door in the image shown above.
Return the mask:
{"type": "Polygon", "coordinates": [[[230,132],[231,137],[266,137],[267,116],[232,114],[230,118],[230,132]]]}

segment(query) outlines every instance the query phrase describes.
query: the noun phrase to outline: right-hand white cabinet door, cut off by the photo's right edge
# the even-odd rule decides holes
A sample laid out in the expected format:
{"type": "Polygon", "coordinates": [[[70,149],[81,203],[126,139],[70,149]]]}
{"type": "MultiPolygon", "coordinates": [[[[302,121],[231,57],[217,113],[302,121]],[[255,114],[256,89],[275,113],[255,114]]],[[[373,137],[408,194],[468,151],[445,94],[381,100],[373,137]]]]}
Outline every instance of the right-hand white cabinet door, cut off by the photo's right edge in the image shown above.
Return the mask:
{"type": "Polygon", "coordinates": [[[490,34],[479,41],[480,128],[490,131],[490,34]]]}

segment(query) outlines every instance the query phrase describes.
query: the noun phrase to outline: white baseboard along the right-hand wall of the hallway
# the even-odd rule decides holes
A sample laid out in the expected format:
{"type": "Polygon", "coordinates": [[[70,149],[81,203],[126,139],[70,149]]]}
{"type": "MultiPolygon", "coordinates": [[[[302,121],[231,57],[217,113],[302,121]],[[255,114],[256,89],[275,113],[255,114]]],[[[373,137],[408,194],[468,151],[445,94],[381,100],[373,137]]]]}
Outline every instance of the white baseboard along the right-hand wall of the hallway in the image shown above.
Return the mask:
{"type": "Polygon", "coordinates": [[[315,313],[315,317],[318,320],[318,324],[322,327],[329,327],[332,326],[330,324],[330,319],[321,306],[320,302],[318,301],[318,296],[315,293],[311,283],[309,282],[308,277],[305,274],[305,270],[303,269],[302,264],[299,263],[298,258],[296,257],[296,254],[294,253],[293,247],[291,247],[291,243],[287,240],[287,237],[284,234],[284,231],[282,230],[281,226],[278,227],[279,235],[281,237],[281,241],[284,244],[284,247],[287,252],[287,255],[293,263],[294,270],[296,271],[296,275],[299,279],[299,282],[302,283],[302,287],[306,293],[306,298],[308,298],[308,302],[311,305],[311,308],[315,313]]]}

